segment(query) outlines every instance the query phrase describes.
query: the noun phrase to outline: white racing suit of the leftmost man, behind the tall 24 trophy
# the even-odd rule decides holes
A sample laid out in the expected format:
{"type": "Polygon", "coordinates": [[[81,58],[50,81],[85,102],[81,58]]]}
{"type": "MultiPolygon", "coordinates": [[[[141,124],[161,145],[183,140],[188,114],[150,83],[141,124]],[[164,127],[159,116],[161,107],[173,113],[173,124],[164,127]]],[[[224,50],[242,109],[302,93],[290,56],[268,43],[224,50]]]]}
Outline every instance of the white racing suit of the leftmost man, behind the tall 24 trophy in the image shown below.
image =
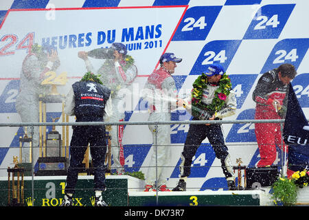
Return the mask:
{"type": "MultiPolygon", "coordinates": [[[[49,93],[50,85],[41,85],[46,78],[45,73],[55,70],[60,65],[59,61],[51,62],[47,59],[41,60],[35,54],[28,54],[21,69],[21,83],[19,94],[16,98],[16,111],[21,116],[22,122],[38,122],[38,98],[40,94],[49,93]]],[[[27,137],[32,136],[33,162],[36,163],[38,157],[38,126],[27,126],[27,137]]],[[[23,144],[22,161],[31,162],[29,142],[23,144]]]]}

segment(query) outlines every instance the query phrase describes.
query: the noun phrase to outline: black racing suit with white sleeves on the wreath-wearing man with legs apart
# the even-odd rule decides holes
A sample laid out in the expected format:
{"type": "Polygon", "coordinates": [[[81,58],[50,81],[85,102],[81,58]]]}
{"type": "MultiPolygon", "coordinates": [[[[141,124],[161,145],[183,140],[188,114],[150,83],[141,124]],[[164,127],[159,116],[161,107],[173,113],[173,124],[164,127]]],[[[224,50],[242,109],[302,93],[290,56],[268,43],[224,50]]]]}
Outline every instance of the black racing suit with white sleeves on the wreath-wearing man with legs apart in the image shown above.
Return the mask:
{"type": "MultiPolygon", "coordinates": [[[[219,85],[208,84],[207,89],[203,91],[202,102],[204,104],[210,104],[215,96],[215,91],[218,89],[219,85]]],[[[186,109],[191,109],[191,100],[187,101],[186,109]]],[[[235,92],[230,91],[229,96],[225,99],[225,105],[222,109],[216,111],[215,120],[221,120],[227,116],[235,114],[237,107],[235,92]]],[[[199,120],[194,117],[193,120],[199,120]]],[[[185,146],[183,147],[183,152],[181,153],[181,177],[188,177],[191,173],[192,158],[194,157],[198,147],[201,145],[203,140],[209,140],[212,148],[216,153],[216,157],[220,159],[222,164],[222,171],[227,180],[233,180],[233,171],[231,170],[230,155],[227,146],[225,145],[225,140],[223,137],[222,129],[220,124],[190,124],[189,131],[187,133],[187,138],[185,140],[185,146]]]]}

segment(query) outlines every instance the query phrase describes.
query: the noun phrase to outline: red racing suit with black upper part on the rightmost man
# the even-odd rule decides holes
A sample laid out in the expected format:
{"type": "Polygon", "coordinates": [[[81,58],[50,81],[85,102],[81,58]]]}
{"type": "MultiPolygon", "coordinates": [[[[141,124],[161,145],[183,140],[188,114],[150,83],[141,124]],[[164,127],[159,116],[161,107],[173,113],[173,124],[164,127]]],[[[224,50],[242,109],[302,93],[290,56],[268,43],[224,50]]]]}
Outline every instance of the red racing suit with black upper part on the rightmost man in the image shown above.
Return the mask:
{"type": "MultiPolygon", "coordinates": [[[[258,80],[253,91],[253,101],[256,102],[255,107],[255,119],[256,120],[269,120],[269,119],[281,119],[285,117],[286,102],[288,85],[284,85],[279,80],[278,70],[273,69],[266,72],[258,80]],[[277,100],[281,109],[275,109],[273,107],[273,100],[277,100]]],[[[255,135],[260,150],[260,162],[258,166],[271,166],[277,157],[276,144],[282,148],[282,151],[288,151],[288,148],[282,140],[282,132],[279,123],[256,123],[255,135]]]]}

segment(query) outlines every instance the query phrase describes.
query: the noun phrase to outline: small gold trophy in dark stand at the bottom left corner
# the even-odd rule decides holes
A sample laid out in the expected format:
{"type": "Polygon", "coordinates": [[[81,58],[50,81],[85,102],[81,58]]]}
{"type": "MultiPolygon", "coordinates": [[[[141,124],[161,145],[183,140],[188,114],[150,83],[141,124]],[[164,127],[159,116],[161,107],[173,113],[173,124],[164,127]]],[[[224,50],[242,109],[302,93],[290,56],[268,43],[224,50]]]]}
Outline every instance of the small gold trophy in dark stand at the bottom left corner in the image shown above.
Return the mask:
{"type": "Polygon", "coordinates": [[[19,168],[18,157],[13,157],[15,164],[14,168],[8,166],[8,206],[23,206],[24,205],[24,181],[23,168],[19,168]],[[12,173],[12,182],[11,182],[12,173]],[[15,184],[17,181],[17,184],[15,184]]]}

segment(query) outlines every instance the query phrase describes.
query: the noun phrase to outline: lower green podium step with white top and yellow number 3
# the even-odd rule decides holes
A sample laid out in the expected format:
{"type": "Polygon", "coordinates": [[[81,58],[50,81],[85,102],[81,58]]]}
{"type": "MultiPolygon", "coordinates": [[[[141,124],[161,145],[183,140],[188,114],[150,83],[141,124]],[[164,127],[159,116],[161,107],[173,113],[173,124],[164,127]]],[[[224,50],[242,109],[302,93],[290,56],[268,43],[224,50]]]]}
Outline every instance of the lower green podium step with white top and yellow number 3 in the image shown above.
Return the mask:
{"type": "Polygon", "coordinates": [[[270,206],[266,190],[128,192],[129,206],[270,206]]]}

